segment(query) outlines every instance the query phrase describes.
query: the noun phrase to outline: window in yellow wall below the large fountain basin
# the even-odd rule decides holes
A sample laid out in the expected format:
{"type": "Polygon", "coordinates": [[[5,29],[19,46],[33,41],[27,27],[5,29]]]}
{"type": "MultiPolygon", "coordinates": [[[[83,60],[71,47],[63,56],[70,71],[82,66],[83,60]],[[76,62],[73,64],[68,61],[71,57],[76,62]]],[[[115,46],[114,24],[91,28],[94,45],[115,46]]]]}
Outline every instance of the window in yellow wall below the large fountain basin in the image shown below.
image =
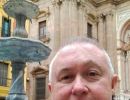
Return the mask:
{"type": "Polygon", "coordinates": [[[0,86],[7,86],[8,64],[0,62],[0,86]]]}

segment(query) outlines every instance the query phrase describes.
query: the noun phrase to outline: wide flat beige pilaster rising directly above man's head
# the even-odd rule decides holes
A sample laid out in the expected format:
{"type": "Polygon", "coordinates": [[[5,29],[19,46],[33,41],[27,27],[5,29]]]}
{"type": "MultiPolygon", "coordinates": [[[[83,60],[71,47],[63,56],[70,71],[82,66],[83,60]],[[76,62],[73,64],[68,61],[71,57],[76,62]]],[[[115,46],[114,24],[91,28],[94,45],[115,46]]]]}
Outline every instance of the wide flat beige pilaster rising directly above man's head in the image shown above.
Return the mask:
{"type": "Polygon", "coordinates": [[[61,45],[78,36],[78,6],[77,0],[64,0],[60,9],[61,45]]]}

